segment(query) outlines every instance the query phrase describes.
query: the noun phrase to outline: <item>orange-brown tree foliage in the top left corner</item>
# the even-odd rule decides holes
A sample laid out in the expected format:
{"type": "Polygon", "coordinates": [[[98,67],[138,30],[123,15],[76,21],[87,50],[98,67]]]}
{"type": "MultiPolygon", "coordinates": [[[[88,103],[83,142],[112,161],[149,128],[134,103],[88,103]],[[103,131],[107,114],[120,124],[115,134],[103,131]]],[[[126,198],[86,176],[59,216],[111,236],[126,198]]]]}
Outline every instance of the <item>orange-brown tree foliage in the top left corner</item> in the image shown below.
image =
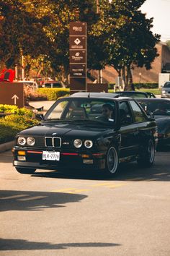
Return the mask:
{"type": "Polygon", "coordinates": [[[50,43],[44,21],[27,12],[22,1],[1,0],[0,17],[0,59],[6,67],[19,64],[22,54],[36,58],[50,43]]]}

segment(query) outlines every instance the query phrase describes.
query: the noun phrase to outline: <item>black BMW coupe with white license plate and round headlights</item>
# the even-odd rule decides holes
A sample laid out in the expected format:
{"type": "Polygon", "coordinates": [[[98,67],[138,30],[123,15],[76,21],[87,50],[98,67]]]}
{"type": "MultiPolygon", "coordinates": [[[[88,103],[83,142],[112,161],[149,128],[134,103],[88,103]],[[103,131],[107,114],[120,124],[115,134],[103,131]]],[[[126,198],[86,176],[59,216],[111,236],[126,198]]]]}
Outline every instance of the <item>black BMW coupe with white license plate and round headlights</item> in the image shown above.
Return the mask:
{"type": "Polygon", "coordinates": [[[121,162],[153,164],[156,121],[132,98],[75,93],[37,119],[39,125],[16,137],[13,164],[19,173],[87,168],[115,174],[121,162]]]}

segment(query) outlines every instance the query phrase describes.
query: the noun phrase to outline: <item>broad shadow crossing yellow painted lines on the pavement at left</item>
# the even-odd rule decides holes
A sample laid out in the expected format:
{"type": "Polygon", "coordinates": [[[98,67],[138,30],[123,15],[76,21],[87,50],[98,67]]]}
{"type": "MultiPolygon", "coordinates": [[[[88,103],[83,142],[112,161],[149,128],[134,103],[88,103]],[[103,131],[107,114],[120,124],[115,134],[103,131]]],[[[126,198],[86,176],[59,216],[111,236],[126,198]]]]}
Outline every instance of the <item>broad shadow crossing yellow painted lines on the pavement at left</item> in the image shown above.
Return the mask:
{"type": "Polygon", "coordinates": [[[63,192],[0,190],[0,212],[9,210],[38,211],[66,207],[68,202],[79,202],[86,195],[63,192]]]}

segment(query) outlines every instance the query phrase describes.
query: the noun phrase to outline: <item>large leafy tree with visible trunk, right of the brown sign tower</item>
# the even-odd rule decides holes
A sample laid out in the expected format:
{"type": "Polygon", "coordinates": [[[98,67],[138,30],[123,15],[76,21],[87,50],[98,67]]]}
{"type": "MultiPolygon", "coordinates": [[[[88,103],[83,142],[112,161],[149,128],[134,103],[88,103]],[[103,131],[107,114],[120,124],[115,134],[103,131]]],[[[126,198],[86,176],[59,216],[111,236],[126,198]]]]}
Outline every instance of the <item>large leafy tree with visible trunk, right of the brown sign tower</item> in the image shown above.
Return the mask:
{"type": "Polygon", "coordinates": [[[133,82],[131,69],[135,66],[151,69],[151,63],[157,54],[156,43],[160,35],[153,35],[153,18],[146,19],[146,14],[139,7],[144,0],[112,0],[110,7],[105,10],[107,17],[109,64],[122,75],[125,88],[133,82]]]}

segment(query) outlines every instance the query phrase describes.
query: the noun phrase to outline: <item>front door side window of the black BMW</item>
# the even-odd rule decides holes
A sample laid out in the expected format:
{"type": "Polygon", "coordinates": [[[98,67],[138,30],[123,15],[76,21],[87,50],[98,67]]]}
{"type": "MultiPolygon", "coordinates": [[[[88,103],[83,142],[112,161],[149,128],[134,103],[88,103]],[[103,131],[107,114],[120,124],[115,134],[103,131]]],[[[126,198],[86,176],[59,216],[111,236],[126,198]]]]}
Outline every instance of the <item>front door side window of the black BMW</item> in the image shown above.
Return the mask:
{"type": "Polygon", "coordinates": [[[131,124],[133,122],[133,118],[127,101],[122,101],[119,103],[119,112],[121,125],[131,124]]]}

